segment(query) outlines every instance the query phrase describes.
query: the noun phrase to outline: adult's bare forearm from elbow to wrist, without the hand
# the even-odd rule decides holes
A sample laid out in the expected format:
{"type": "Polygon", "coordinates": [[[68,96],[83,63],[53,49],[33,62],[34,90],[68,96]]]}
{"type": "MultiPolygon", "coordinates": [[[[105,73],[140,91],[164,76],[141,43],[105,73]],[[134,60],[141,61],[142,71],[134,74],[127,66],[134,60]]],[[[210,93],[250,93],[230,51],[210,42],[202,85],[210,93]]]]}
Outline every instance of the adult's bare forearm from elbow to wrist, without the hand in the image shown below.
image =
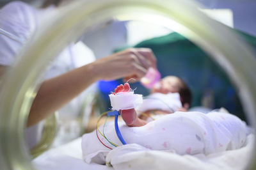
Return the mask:
{"type": "Polygon", "coordinates": [[[99,80],[99,74],[92,63],[44,81],[31,106],[27,125],[34,125],[60,109],[99,80]]]}

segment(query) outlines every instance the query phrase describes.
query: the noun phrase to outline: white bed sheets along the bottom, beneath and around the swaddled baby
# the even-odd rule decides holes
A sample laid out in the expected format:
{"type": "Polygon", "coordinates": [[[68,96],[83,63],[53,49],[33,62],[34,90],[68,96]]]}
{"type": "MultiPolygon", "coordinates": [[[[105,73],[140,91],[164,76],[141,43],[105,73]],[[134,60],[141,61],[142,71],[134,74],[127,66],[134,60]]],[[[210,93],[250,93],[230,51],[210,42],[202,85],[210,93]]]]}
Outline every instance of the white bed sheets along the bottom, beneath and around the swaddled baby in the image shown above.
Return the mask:
{"type": "Polygon", "coordinates": [[[143,151],[136,144],[128,144],[111,151],[107,161],[113,167],[86,164],[82,158],[81,137],[57,148],[46,151],[32,160],[36,169],[244,169],[253,150],[254,135],[246,138],[239,150],[210,155],[177,155],[165,151],[143,151]],[[150,162],[150,163],[148,163],[150,162]]]}

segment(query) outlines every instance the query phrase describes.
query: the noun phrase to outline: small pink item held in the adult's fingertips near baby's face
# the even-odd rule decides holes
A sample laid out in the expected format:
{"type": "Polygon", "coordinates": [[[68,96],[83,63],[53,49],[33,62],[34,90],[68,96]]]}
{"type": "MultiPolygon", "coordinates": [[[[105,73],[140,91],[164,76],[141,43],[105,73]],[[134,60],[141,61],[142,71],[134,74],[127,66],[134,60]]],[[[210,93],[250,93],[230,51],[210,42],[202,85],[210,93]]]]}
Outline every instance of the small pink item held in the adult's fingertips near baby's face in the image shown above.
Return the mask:
{"type": "Polygon", "coordinates": [[[156,84],[157,82],[159,82],[159,80],[161,79],[161,74],[158,72],[158,70],[156,70],[156,68],[148,68],[148,72],[145,75],[145,77],[142,77],[140,82],[143,86],[145,86],[145,88],[152,88],[154,86],[154,84],[156,84]]]}

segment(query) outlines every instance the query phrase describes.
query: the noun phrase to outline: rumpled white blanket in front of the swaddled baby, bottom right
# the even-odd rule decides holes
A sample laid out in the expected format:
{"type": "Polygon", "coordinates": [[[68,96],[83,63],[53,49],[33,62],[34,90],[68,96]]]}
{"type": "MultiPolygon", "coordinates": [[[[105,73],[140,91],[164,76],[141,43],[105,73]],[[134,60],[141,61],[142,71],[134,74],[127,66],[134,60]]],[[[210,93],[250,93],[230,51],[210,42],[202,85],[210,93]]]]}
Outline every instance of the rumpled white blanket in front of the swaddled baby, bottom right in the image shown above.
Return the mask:
{"type": "Polygon", "coordinates": [[[254,136],[251,134],[246,138],[242,148],[207,156],[181,156],[176,153],[148,150],[138,144],[127,144],[110,151],[106,162],[114,169],[241,170],[250,160],[253,143],[254,136]]]}

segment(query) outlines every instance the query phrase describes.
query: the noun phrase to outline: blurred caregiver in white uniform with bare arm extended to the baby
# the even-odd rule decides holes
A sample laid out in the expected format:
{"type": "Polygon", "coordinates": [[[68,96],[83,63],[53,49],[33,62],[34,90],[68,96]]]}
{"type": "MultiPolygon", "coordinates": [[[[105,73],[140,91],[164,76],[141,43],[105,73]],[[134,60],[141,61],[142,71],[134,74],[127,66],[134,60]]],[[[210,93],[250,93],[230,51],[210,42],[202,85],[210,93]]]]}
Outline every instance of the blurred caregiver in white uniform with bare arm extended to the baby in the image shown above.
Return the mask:
{"type": "MultiPolygon", "coordinates": [[[[17,61],[22,47],[62,3],[65,1],[44,1],[41,8],[34,8],[21,1],[13,1],[1,8],[1,75],[17,61]]],[[[26,134],[29,146],[35,146],[40,139],[41,124],[44,122],[38,121],[57,110],[60,118],[54,145],[66,143],[83,134],[81,128],[86,125],[84,120],[88,121],[91,112],[85,111],[88,110],[86,106],[92,108],[93,105],[92,99],[89,102],[87,100],[94,98],[97,93],[95,82],[125,77],[136,77],[139,80],[150,66],[156,67],[156,59],[150,49],[128,49],[95,61],[92,50],[83,42],[70,43],[49,63],[42,77],[45,81],[42,81],[38,89],[28,117],[29,128],[26,134]]]]}

